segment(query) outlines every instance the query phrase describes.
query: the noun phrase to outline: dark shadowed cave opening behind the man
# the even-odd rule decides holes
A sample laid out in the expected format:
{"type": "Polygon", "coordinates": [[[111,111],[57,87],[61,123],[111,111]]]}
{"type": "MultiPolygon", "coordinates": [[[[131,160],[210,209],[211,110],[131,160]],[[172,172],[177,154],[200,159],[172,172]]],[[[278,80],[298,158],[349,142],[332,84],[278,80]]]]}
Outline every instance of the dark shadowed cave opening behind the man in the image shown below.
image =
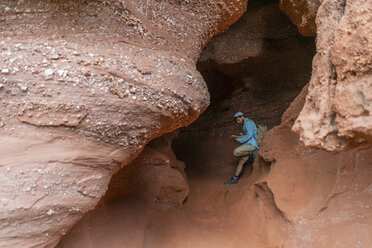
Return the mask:
{"type": "Polygon", "coordinates": [[[233,174],[232,151],[239,143],[229,136],[242,132],[234,113],[269,129],[279,125],[309,82],[314,55],[315,39],[301,36],[276,0],[250,1],[240,20],[207,44],[197,69],[208,85],[210,105],[173,142],[177,158],[186,163],[191,194],[194,178],[223,184],[233,174]]]}

